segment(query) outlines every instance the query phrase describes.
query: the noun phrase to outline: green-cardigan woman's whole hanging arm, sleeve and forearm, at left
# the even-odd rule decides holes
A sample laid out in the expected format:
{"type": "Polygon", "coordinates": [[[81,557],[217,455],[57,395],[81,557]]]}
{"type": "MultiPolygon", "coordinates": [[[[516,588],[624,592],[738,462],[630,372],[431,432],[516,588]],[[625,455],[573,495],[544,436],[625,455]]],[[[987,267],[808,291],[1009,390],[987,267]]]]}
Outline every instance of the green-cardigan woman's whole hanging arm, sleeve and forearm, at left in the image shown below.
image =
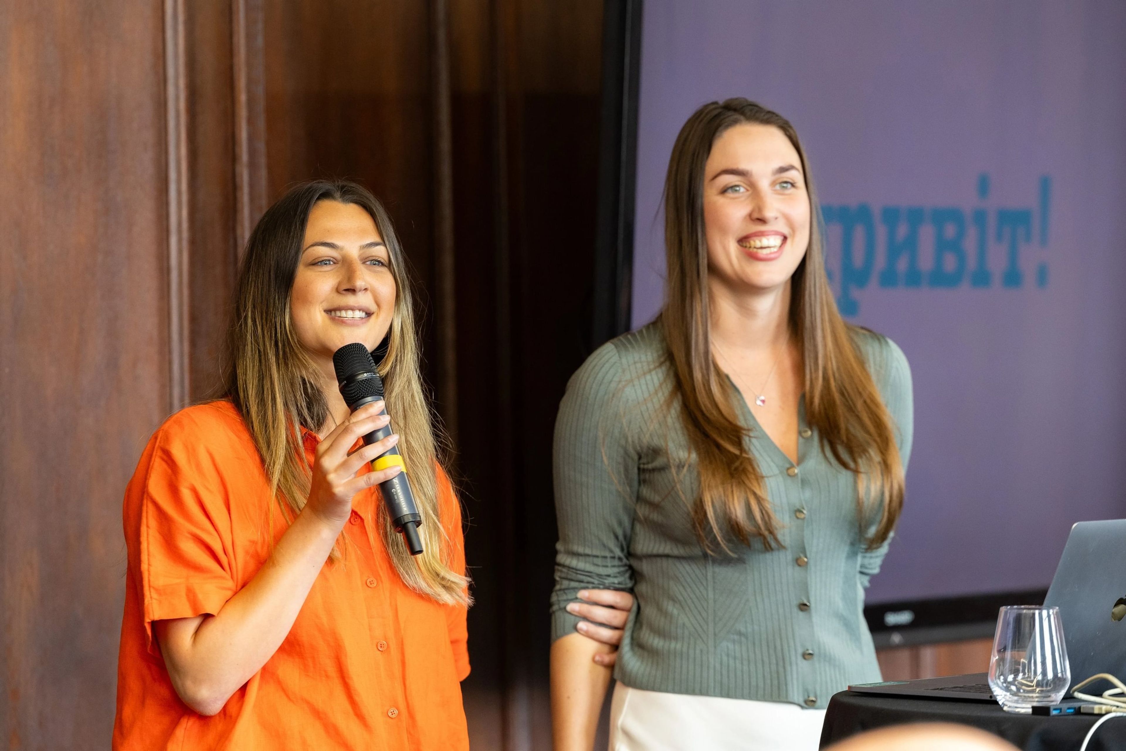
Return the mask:
{"type": "MultiPolygon", "coordinates": [[[[556,751],[590,751],[615,646],[577,633],[591,590],[633,589],[629,538],[637,457],[626,430],[615,346],[598,349],[568,385],[555,423],[560,542],[552,594],[552,726],[556,751]],[[604,655],[600,663],[595,656],[604,655]]],[[[597,620],[597,619],[596,619],[597,620]]],[[[624,620],[624,617],[623,619],[624,620]]],[[[617,637],[620,640],[620,631],[617,637]]],[[[613,641],[613,640],[610,640],[613,641]]]]}

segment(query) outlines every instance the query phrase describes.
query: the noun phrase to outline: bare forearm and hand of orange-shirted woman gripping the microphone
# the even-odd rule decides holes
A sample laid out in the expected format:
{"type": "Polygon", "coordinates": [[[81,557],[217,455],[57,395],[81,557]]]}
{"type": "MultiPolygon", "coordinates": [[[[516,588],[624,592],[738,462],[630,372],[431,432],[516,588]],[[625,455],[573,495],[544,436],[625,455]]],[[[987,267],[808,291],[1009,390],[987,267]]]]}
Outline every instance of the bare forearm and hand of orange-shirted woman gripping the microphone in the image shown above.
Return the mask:
{"type": "Polygon", "coordinates": [[[309,591],[351,513],[351,499],[399,473],[399,467],[356,476],[399,437],[365,446],[356,440],[387,422],[368,404],[325,436],[316,449],[309,500],[253,579],[215,615],[153,622],[172,687],[191,709],[217,714],[261,670],[293,627],[309,591]]]}

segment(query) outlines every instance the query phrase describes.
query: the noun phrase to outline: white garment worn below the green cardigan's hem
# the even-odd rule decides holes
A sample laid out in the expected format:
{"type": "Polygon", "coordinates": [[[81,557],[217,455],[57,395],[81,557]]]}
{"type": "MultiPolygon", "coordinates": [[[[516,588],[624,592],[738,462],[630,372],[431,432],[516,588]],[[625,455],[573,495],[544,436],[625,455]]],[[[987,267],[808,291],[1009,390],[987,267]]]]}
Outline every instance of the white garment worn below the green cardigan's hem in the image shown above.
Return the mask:
{"type": "Polygon", "coordinates": [[[781,701],[643,691],[610,703],[609,751],[817,751],[824,709],[781,701]]]}

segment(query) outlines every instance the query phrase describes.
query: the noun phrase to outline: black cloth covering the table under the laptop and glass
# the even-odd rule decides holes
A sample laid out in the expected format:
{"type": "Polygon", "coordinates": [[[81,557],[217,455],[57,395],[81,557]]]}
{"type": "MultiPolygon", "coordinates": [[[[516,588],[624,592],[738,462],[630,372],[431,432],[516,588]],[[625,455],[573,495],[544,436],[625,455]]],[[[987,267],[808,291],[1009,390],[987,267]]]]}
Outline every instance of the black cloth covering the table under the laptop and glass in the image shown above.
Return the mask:
{"type": "MultiPolygon", "coordinates": [[[[999,705],[951,699],[917,699],[841,691],[829,701],[821,748],[861,731],[904,723],[958,723],[1000,735],[1025,751],[1079,751],[1101,715],[1017,715],[999,705]]],[[[1126,750],[1126,717],[1102,723],[1087,751],[1126,750]]]]}

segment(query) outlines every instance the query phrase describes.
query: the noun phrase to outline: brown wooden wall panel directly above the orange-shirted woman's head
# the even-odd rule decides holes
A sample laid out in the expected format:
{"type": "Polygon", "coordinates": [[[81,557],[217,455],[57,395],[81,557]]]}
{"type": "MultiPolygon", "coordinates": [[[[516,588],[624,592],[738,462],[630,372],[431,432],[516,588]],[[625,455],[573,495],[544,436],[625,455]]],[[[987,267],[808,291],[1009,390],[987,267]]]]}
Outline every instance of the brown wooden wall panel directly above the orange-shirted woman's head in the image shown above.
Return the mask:
{"type": "Polygon", "coordinates": [[[443,377],[431,322],[439,197],[432,5],[262,1],[268,203],[315,178],[357,180],[384,203],[422,293],[431,385],[443,377]]]}

